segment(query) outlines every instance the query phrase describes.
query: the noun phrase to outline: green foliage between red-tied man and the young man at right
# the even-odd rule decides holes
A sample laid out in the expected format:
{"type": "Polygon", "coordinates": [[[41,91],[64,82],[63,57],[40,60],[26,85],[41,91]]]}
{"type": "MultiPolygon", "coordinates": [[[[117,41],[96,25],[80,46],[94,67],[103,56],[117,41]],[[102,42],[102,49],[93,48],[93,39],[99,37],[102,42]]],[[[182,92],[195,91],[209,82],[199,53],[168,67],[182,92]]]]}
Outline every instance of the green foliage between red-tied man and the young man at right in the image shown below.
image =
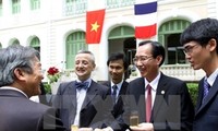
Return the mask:
{"type": "Polygon", "coordinates": [[[189,88],[190,95],[192,97],[192,102],[195,106],[196,102],[197,102],[198,83],[187,83],[187,88],[189,88]]]}

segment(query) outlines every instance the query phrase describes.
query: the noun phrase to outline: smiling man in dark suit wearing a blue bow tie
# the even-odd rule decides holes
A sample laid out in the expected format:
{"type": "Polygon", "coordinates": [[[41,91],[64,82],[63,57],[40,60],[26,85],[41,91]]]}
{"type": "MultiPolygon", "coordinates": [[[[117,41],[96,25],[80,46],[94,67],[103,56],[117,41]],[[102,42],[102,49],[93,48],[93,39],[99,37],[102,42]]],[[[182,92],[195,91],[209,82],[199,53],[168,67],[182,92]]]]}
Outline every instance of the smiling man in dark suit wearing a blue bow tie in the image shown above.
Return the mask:
{"type": "Polygon", "coordinates": [[[90,79],[94,69],[94,55],[80,51],[75,57],[77,80],[59,86],[53,106],[60,109],[60,117],[69,130],[71,126],[84,130],[104,128],[104,119],[110,114],[105,102],[109,88],[90,79]]]}

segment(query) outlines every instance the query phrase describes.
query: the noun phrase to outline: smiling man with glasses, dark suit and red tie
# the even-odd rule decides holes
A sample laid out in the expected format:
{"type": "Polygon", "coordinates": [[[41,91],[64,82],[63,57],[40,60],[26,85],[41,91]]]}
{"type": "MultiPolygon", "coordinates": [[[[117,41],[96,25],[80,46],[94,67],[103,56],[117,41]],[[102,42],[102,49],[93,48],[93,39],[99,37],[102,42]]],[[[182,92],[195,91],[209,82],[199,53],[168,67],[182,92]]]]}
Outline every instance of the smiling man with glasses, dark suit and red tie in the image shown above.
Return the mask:
{"type": "Polygon", "coordinates": [[[125,123],[133,131],[191,131],[194,107],[186,84],[160,72],[165,61],[161,44],[141,41],[133,61],[142,78],[129,84],[125,123]],[[130,120],[131,114],[138,120],[130,120]]]}

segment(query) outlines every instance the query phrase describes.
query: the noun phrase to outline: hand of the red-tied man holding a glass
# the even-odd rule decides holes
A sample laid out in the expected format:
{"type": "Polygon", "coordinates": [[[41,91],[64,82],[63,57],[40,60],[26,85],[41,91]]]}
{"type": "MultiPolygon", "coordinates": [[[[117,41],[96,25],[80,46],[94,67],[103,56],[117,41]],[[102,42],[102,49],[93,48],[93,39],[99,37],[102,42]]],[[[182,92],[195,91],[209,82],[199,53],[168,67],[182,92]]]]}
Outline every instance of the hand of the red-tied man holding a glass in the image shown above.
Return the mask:
{"type": "Polygon", "coordinates": [[[133,131],[154,131],[153,123],[140,123],[138,126],[132,126],[130,127],[133,131]]]}

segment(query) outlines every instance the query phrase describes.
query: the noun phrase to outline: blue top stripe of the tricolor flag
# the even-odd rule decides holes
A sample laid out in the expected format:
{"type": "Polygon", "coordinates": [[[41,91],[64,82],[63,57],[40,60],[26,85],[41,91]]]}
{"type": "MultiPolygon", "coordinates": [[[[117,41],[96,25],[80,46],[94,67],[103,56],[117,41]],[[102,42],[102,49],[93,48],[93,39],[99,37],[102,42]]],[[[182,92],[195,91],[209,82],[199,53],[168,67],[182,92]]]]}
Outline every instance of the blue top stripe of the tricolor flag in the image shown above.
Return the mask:
{"type": "Polygon", "coordinates": [[[157,12],[157,1],[150,3],[135,4],[134,10],[136,15],[157,12]]]}

